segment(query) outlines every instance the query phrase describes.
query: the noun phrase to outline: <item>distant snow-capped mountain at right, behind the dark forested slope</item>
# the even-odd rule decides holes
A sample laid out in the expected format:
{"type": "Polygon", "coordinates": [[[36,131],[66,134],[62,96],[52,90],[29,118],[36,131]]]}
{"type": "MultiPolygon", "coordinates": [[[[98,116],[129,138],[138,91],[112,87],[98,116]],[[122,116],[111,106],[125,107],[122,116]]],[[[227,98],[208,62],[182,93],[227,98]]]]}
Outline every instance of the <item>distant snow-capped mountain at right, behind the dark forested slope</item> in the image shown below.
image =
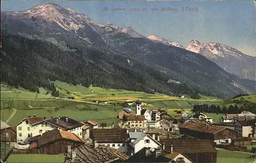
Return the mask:
{"type": "Polygon", "coordinates": [[[198,40],[192,40],[186,50],[205,56],[228,73],[255,80],[255,57],[245,55],[230,46],[217,42],[201,44],[198,40]]]}

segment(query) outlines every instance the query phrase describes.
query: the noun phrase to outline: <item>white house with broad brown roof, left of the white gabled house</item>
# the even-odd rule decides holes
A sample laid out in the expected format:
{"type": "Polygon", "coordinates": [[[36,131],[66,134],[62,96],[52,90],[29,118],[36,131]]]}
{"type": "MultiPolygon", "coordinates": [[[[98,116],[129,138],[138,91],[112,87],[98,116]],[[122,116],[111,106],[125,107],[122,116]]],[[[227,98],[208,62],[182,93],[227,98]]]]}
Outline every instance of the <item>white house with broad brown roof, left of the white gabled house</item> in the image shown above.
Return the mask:
{"type": "Polygon", "coordinates": [[[92,129],[92,140],[94,148],[104,145],[126,152],[129,134],[126,129],[92,129]]]}

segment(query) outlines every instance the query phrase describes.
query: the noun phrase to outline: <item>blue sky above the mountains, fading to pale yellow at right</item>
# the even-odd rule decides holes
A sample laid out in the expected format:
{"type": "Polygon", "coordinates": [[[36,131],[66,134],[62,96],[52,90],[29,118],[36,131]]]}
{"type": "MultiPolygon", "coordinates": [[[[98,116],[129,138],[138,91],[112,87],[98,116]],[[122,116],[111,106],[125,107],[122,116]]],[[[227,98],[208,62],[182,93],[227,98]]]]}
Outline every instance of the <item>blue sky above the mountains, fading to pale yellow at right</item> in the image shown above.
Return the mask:
{"type": "Polygon", "coordinates": [[[253,1],[2,1],[1,10],[27,10],[46,3],[74,8],[100,24],[130,26],[144,36],[154,34],[178,41],[184,47],[196,39],[201,43],[222,43],[255,56],[253,1]],[[103,11],[103,7],[125,8],[125,11],[103,11]],[[162,12],[163,7],[179,11],[162,12]],[[198,12],[182,12],[183,7],[197,8],[198,12]],[[148,11],[129,12],[129,8],[148,8],[148,11]],[[158,8],[158,11],[150,11],[151,8],[158,8]]]}

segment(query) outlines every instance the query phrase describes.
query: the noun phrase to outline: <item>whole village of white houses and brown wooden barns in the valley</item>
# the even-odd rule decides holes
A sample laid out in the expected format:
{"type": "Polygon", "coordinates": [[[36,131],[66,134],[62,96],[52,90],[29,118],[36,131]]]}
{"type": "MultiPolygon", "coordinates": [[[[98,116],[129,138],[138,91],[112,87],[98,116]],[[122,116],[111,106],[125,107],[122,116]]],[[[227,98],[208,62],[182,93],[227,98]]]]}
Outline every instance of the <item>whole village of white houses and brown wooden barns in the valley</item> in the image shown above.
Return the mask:
{"type": "Polygon", "coordinates": [[[13,145],[10,154],[62,153],[65,162],[217,162],[217,148],[251,153],[255,160],[254,113],[226,114],[215,123],[204,112],[169,115],[166,108],[134,103],[135,113],[123,108],[112,126],[36,114],[16,126],[1,121],[1,142],[13,145]]]}

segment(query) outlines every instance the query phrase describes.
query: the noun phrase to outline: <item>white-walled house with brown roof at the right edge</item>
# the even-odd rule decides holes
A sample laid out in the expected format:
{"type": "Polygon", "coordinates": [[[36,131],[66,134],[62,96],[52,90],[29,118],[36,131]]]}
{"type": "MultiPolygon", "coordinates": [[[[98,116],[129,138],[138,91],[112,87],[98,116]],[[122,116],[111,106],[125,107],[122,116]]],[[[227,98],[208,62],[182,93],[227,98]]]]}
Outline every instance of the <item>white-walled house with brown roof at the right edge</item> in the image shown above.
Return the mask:
{"type": "Polygon", "coordinates": [[[234,130],[238,132],[239,137],[256,137],[256,119],[237,120],[234,130]]]}

